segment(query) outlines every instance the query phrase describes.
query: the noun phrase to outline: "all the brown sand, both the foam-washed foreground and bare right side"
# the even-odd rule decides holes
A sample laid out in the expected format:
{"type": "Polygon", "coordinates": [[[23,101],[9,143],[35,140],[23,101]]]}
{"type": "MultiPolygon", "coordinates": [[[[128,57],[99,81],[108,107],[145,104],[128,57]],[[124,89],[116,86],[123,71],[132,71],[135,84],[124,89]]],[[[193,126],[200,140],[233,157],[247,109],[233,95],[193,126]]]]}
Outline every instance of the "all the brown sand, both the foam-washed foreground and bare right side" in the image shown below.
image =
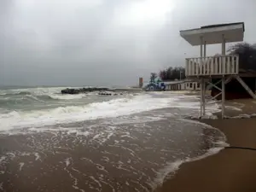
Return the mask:
{"type": "MultiPolygon", "coordinates": [[[[228,116],[256,112],[253,100],[227,105],[231,106],[227,108],[228,116]]],[[[167,172],[160,172],[166,162],[205,154],[208,148],[218,147],[218,137],[222,137],[217,130],[191,125],[178,116],[169,117],[168,113],[178,114],[182,109],[172,110],[41,130],[31,128],[18,135],[0,136],[0,191],[149,192],[160,183],[155,178],[166,176],[167,172]]],[[[202,122],[223,131],[231,146],[256,148],[254,118],[202,122]]],[[[256,191],[255,162],[256,151],[224,149],[183,164],[157,190],[256,191]]]]}

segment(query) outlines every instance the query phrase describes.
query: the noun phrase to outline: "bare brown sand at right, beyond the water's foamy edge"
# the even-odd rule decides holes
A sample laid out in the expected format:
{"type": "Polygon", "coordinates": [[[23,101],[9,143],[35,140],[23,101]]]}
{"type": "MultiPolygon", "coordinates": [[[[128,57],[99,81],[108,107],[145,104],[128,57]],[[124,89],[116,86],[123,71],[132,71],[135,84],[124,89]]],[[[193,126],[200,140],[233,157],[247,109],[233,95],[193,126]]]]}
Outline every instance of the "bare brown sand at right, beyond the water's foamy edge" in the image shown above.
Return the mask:
{"type": "MultiPolygon", "coordinates": [[[[253,100],[230,101],[238,110],[227,110],[227,115],[256,112],[253,100]]],[[[205,119],[202,122],[223,131],[230,146],[256,148],[256,118],[247,119],[205,119]]],[[[167,180],[161,192],[255,192],[256,191],[256,150],[225,148],[218,154],[183,164],[177,173],[167,180]]]]}

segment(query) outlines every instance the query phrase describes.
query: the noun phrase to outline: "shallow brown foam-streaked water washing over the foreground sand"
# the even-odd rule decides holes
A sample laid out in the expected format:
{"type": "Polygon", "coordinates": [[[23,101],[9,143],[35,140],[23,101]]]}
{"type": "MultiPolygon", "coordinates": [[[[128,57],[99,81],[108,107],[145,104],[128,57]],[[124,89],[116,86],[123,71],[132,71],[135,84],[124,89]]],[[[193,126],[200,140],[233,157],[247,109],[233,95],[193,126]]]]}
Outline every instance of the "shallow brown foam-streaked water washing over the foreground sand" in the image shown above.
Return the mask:
{"type": "Polygon", "coordinates": [[[168,162],[198,157],[224,141],[218,130],[168,112],[0,135],[0,191],[150,192],[172,171],[168,162]]]}

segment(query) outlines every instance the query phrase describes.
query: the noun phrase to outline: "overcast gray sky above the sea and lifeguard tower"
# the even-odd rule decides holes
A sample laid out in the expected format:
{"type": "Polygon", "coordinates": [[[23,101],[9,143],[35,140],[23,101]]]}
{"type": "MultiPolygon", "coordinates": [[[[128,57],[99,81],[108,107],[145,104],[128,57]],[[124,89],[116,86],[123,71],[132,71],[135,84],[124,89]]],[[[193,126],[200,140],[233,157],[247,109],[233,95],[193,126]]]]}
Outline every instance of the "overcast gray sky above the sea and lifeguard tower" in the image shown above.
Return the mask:
{"type": "Polygon", "coordinates": [[[255,0],[0,0],[0,84],[135,85],[199,55],[179,30],[244,21],[245,41],[255,43],[255,8],[255,0]]]}

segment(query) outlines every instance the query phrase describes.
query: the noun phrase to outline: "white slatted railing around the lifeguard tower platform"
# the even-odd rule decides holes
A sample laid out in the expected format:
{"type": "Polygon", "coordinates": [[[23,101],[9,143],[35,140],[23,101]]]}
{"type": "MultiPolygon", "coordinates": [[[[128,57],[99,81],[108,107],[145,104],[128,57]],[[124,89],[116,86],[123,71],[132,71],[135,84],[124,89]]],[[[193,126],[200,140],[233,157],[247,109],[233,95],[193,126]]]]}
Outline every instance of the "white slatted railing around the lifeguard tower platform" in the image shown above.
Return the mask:
{"type": "Polygon", "coordinates": [[[186,76],[212,76],[239,73],[238,55],[216,55],[186,59],[186,76]]]}

